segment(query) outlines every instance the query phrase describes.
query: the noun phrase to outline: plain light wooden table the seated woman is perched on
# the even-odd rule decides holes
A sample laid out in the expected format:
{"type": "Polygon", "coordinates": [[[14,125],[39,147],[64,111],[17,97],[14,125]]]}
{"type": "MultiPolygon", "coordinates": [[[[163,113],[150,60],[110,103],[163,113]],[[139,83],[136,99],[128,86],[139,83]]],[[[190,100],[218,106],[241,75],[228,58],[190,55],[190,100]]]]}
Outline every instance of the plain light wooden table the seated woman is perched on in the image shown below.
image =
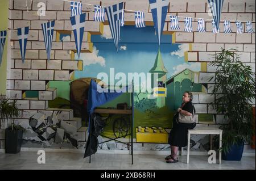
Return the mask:
{"type": "MultiPolygon", "coordinates": [[[[191,134],[219,134],[219,148],[222,146],[222,130],[214,127],[195,127],[194,129],[188,129],[188,150],[187,150],[187,163],[189,163],[189,149],[190,149],[190,136],[191,134]]],[[[218,154],[219,163],[221,164],[221,150],[218,154]]]]}

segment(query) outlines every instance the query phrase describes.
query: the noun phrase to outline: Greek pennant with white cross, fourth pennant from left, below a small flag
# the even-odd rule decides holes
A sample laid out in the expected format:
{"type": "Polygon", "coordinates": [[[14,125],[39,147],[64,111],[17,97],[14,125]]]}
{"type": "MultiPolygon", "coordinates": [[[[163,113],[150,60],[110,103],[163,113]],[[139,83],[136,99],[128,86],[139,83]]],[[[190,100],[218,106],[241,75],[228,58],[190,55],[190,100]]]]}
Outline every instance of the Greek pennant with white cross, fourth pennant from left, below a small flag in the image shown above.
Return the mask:
{"type": "Polygon", "coordinates": [[[70,17],[72,30],[76,41],[76,50],[78,58],[80,58],[82,48],[82,37],[84,36],[85,13],[70,17]]]}

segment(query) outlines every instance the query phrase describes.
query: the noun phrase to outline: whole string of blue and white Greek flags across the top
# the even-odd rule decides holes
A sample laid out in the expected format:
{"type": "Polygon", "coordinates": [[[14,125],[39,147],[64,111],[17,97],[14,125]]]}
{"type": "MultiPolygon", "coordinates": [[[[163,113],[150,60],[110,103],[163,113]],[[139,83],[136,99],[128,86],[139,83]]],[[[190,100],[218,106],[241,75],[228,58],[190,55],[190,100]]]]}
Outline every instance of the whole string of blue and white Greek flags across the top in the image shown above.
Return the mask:
{"type": "MultiPolygon", "coordinates": [[[[61,0],[64,1],[64,0],[61,0]]],[[[158,37],[158,44],[160,45],[160,39],[163,32],[164,23],[166,22],[167,10],[169,6],[168,0],[148,0],[150,3],[150,9],[152,14],[152,19],[154,22],[154,28],[156,35],[158,37]]],[[[72,30],[75,36],[76,50],[78,58],[80,58],[80,53],[82,49],[82,39],[84,35],[85,28],[85,13],[82,13],[82,4],[81,2],[69,1],[71,6],[71,24],[72,30]]],[[[212,33],[220,32],[220,15],[222,11],[222,6],[224,0],[208,0],[210,5],[210,10],[212,12],[213,19],[212,21],[212,33]]],[[[85,3],[86,4],[86,3],[85,3]]],[[[90,4],[86,4],[90,5],[90,4]]],[[[94,21],[96,22],[105,22],[105,13],[108,17],[110,31],[113,37],[114,45],[118,51],[119,49],[119,39],[120,39],[120,30],[122,26],[125,26],[125,9],[123,8],[124,3],[118,3],[109,7],[103,7],[99,5],[94,6],[94,21]]],[[[133,10],[126,10],[133,11],[133,10]]],[[[133,11],[135,18],[135,27],[144,28],[144,13],[142,11],[133,11]]],[[[146,12],[148,13],[148,12],[146,12]]],[[[180,30],[179,27],[179,17],[170,15],[170,30],[177,31],[180,30]]],[[[192,32],[192,19],[197,20],[197,31],[206,32],[205,28],[205,19],[204,18],[192,18],[192,17],[182,17],[184,18],[184,31],[192,32]]],[[[224,33],[232,33],[230,20],[224,20],[224,33]]],[[[235,21],[237,31],[236,33],[243,33],[243,25],[239,20],[235,21]]],[[[245,22],[247,33],[254,33],[251,21],[245,22]]],[[[52,48],[52,39],[53,31],[55,27],[55,21],[42,23],[42,31],[44,36],[44,44],[46,46],[47,59],[50,60],[51,57],[51,48],[52,48]]],[[[22,62],[24,63],[26,55],[26,46],[27,38],[29,33],[29,27],[18,28],[18,40],[20,45],[20,55],[22,62]]],[[[3,48],[5,46],[7,31],[0,31],[0,65],[3,56],[3,48]]]]}

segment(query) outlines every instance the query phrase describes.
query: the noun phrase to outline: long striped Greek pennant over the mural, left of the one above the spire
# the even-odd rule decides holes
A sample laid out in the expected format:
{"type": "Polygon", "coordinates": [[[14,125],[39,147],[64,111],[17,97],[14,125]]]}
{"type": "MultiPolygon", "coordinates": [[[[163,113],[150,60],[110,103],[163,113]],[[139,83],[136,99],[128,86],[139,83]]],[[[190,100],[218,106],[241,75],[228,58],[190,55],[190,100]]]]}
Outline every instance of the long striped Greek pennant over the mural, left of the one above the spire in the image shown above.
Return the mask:
{"type": "Polygon", "coordinates": [[[115,48],[118,51],[120,39],[120,26],[123,12],[123,2],[117,5],[106,7],[106,14],[109,19],[109,27],[114,40],[115,48]]]}

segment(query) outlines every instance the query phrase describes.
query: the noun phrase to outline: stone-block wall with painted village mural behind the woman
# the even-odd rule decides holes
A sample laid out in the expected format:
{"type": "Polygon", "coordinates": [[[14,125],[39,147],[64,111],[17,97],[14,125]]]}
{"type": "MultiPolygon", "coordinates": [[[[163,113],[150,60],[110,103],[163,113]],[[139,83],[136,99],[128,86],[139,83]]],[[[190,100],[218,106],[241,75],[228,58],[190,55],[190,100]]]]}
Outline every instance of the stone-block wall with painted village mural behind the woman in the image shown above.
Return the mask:
{"type": "MultiPolygon", "coordinates": [[[[109,6],[118,1],[110,3],[109,1],[82,0],[81,2],[109,6]]],[[[125,7],[149,12],[149,4],[146,0],[128,1],[125,7]]],[[[71,15],[69,2],[33,0],[32,5],[26,7],[23,0],[10,0],[11,37],[8,43],[13,46],[10,47],[11,53],[8,57],[10,75],[7,76],[6,94],[10,99],[16,99],[18,107],[22,110],[22,117],[15,119],[15,122],[28,130],[23,137],[23,147],[84,148],[88,128],[86,115],[83,113],[81,115],[82,107],[86,104],[83,100],[88,94],[84,90],[88,89],[90,78],[97,77],[100,72],[109,74],[110,68],[114,68],[115,73],[125,74],[160,71],[159,79],[166,86],[167,96],[151,99],[151,94],[135,95],[136,127],[163,127],[167,128],[167,132],[170,131],[172,114],[180,105],[181,94],[185,90],[194,93],[193,103],[198,125],[210,123],[212,127],[218,127],[226,123],[224,115],[217,114],[212,109],[212,102],[216,95],[210,93],[215,82],[209,81],[209,77],[214,76],[216,68],[209,65],[212,61],[211,55],[220,51],[220,47],[238,49],[238,53],[242,54],[243,62],[255,71],[255,33],[233,32],[227,35],[223,27],[220,27],[220,33],[213,34],[212,23],[208,21],[206,22],[207,32],[200,33],[196,30],[195,20],[193,20],[193,31],[184,32],[182,18],[179,19],[181,30],[171,31],[169,15],[211,19],[208,15],[206,0],[195,0],[193,3],[173,0],[170,1],[167,20],[164,24],[160,51],[156,44],[154,28],[152,28],[152,15],[145,14],[147,28],[137,30],[134,28],[134,13],[125,12],[125,27],[121,30],[121,46],[117,53],[112,43],[108,23],[93,21],[93,6],[85,5],[82,8],[86,13],[86,26],[82,40],[81,60],[77,61],[75,39],[69,19],[71,15]],[[39,2],[46,4],[46,16],[37,15],[39,2]],[[47,61],[41,27],[41,23],[48,20],[55,20],[56,25],[50,61],[47,61]],[[30,26],[30,35],[26,60],[21,64],[16,28],[25,26],[30,26]],[[79,96],[73,96],[75,94],[72,92],[79,93],[79,96]],[[73,99],[77,100],[75,104],[71,104],[73,99]]],[[[8,11],[8,9],[5,10],[8,11]]],[[[226,0],[222,19],[232,19],[230,17],[238,20],[251,19],[255,22],[255,2],[226,0]]],[[[232,23],[232,26],[235,24],[232,23]]],[[[253,28],[255,30],[255,23],[253,28]]],[[[125,83],[128,82],[125,81],[125,83]]],[[[119,102],[127,102],[130,106],[129,100],[129,94],[123,94],[113,102],[105,104],[104,107],[116,107],[119,102]]],[[[108,115],[102,115],[102,117],[106,119],[108,115]]],[[[106,136],[114,137],[114,120],[115,117],[106,120],[107,126],[104,133],[106,136]]],[[[2,125],[1,149],[5,148],[4,132],[5,128],[2,125]]],[[[105,141],[104,137],[98,137],[98,139],[105,141]]],[[[205,151],[209,148],[207,136],[195,136],[192,140],[192,150],[205,151]]],[[[115,141],[99,146],[100,149],[127,149],[127,145],[115,141]]],[[[134,149],[166,150],[168,146],[167,144],[144,144],[144,146],[135,144],[134,149]]]]}

